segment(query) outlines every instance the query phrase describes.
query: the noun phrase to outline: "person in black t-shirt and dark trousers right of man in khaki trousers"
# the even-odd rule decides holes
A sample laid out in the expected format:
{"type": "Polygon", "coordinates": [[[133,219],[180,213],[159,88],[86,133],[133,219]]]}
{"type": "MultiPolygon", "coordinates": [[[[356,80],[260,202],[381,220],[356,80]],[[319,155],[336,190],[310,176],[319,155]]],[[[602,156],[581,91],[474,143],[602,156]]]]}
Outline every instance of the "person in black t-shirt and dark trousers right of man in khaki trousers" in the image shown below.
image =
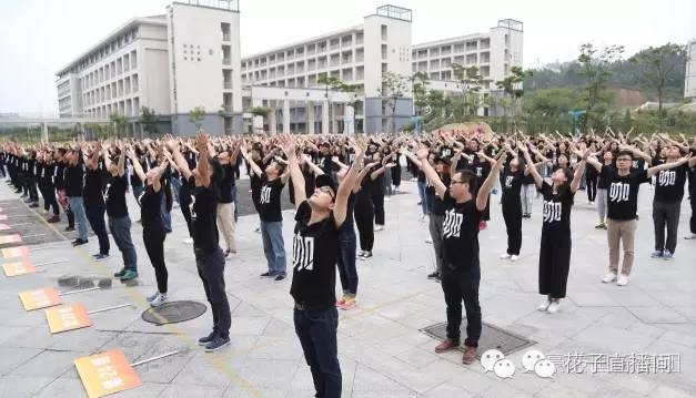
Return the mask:
{"type": "MultiPolygon", "coordinates": [[[[665,163],[677,162],[682,156],[677,145],[666,147],[667,159],[665,163]]],[[[655,225],[655,252],[653,258],[674,258],[677,248],[677,228],[679,227],[679,213],[682,198],[684,197],[684,184],[689,167],[696,165],[696,157],[692,157],[688,164],[682,164],[670,170],[663,170],[656,175],[655,196],[653,198],[653,223],[655,225]],[[665,242],[665,227],[667,239],[665,242]]]]}

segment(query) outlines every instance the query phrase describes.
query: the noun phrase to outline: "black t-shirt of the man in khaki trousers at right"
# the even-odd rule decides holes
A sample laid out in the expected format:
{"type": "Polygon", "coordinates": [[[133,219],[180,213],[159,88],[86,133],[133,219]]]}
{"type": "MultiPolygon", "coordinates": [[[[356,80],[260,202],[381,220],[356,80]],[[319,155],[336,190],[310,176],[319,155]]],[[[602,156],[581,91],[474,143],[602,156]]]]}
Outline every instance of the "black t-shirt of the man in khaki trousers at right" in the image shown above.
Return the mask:
{"type": "Polygon", "coordinates": [[[601,174],[607,182],[607,217],[635,220],[638,210],[638,187],[649,181],[646,170],[632,171],[619,176],[614,167],[602,166],[601,174]]]}

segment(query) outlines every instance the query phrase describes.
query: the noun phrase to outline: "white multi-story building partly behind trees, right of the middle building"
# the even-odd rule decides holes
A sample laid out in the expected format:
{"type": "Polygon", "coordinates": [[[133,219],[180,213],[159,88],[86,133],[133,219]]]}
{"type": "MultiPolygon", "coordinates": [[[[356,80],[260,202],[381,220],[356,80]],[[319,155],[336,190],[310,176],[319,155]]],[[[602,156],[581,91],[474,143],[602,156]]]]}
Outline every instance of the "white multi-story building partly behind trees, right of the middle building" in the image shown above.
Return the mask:
{"type": "MultiPolygon", "coordinates": [[[[498,94],[496,82],[502,81],[513,67],[522,67],[523,23],[503,19],[487,33],[415,44],[411,51],[411,72],[423,72],[430,79],[428,88],[444,92],[462,92],[453,64],[476,67],[483,78],[482,93],[498,94]]],[[[488,109],[482,108],[487,115],[488,109]]]]}

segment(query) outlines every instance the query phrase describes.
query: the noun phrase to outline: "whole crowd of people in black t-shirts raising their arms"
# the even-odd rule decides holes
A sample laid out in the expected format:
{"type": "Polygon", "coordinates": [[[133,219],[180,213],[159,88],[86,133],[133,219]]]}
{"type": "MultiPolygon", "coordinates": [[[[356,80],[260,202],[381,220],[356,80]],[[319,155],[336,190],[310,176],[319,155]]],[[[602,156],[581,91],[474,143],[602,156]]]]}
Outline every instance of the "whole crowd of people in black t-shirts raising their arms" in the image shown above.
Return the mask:
{"type": "Polygon", "coordinates": [[[533,217],[536,197],[543,202],[538,293],[544,299],[538,309],[555,314],[566,296],[571,272],[571,216],[577,191],[584,190],[587,203],[596,205],[596,228],[606,229],[608,271],[601,280],[625,286],[635,258],[642,184],[654,190],[652,257],[670,261],[675,256],[687,180],[692,217],[685,238],[696,238],[695,153],[696,140],[632,136],[609,129],[582,136],[435,131],[353,137],[209,137],[200,132],[195,139],[4,143],[0,173],[30,207],[40,207],[43,201],[47,222],[60,223],[64,216],[67,232],[75,231],[77,224],[74,246],[88,243],[91,228],[99,241],[97,261],[111,254],[108,226],[122,255],[122,269],[114,273],[121,280],[139,277],[131,237],[134,208],[127,201],[132,194],[140,207],[135,224],[142,225],[143,245],[155,274],[157,292],[148,297],[152,307],[169,299],[164,241],[172,232],[171,213],[179,207],[212,308],[213,328],[199,339],[209,351],[230,343],[224,266],[238,252],[241,165],[249,173],[259,215],[256,231],[266,259],[261,276],[276,282],[288,276],[281,198],[289,185],[295,206],[290,288],[295,331],[317,396],[337,397],[337,309],[356,305],[356,261],[373,257],[375,233],[387,227],[384,204],[400,190],[404,172],[417,185],[420,212],[414,212],[414,218],[428,223],[435,266],[427,278],[441,283],[446,304],[447,336],[435,351],[460,347],[463,303],[467,326],[462,361],[472,364],[482,330],[478,233],[490,222],[501,222],[491,220],[492,192],[501,192],[507,234],[501,258],[510,262],[518,259],[523,247],[523,220],[533,217]],[[339,299],[336,269],[343,292],[339,299]]]}

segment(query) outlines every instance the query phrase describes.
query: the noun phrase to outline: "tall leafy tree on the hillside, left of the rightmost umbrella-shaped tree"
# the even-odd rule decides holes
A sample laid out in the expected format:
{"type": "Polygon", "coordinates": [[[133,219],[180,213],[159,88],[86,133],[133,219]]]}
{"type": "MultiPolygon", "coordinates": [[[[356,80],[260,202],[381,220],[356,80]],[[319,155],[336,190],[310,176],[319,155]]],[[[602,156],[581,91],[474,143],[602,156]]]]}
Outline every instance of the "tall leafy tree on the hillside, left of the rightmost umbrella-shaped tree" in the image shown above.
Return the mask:
{"type": "Polygon", "coordinates": [[[623,45],[609,45],[597,50],[592,43],[581,45],[577,61],[582,67],[579,74],[585,78],[585,126],[599,127],[605,119],[611,96],[606,85],[612,76],[611,65],[618,61],[624,52],[623,45]]]}

